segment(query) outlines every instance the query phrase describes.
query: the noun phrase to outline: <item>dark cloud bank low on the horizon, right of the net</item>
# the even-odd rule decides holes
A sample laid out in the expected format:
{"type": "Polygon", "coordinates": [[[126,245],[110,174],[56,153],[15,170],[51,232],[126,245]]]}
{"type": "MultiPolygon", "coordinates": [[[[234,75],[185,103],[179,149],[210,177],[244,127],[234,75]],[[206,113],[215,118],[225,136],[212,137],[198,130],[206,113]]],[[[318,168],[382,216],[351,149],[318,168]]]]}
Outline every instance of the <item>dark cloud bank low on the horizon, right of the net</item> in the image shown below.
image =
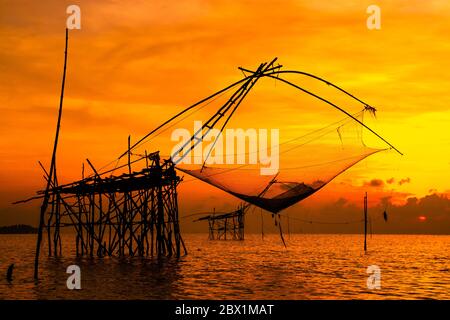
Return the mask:
{"type": "MultiPolygon", "coordinates": [[[[368,212],[374,233],[450,234],[450,194],[409,197],[403,204],[392,203],[389,197],[378,200],[369,196],[368,212]],[[383,219],[385,210],[388,222],[383,219]],[[421,216],[426,217],[425,221],[419,219],[421,216]]],[[[289,217],[322,222],[305,224],[299,220],[291,221],[291,230],[300,229],[306,233],[361,233],[363,230],[361,205],[345,198],[315,206],[299,205],[289,211],[289,217]]]]}

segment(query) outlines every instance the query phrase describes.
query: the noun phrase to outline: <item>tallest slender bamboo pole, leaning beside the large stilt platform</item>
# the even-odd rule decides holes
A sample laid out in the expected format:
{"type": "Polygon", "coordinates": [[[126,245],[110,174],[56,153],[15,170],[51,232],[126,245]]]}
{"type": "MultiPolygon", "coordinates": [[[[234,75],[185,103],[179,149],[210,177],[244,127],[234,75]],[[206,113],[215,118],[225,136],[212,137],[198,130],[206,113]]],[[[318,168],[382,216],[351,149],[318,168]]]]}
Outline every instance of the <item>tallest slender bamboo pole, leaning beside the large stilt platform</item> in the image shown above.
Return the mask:
{"type": "Polygon", "coordinates": [[[34,278],[38,279],[38,272],[39,272],[39,254],[41,250],[41,242],[42,242],[42,228],[44,226],[44,217],[45,217],[45,211],[48,207],[48,200],[50,198],[50,184],[54,178],[53,174],[56,172],[56,150],[58,147],[58,139],[59,139],[59,129],[61,127],[61,117],[62,117],[62,108],[63,108],[63,100],[64,100],[64,85],[66,82],[66,66],[67,66],[67,45],[69,40],[69,30],[66,28],[66,44],[65,44],[65,50],[64,50],[64,70],[63,70],[63,76],[62,76],[62,85],[61,85],[61,96],[59,99],[59,110],[58,110],[58,121],[56,124],[56,134],[55,134],[55,142],[53,144],[53,153],[52,153],[52,161],[50,164],[50,170],[49,170],[49,179],[47,180],[47,186],[45,188],[45,195],[44,200],[42,201],[41,205],[41,214],[39,217],[39,230],[38,230],[38,238],[36,242],[36,255],[34,260],[34,278]]]}

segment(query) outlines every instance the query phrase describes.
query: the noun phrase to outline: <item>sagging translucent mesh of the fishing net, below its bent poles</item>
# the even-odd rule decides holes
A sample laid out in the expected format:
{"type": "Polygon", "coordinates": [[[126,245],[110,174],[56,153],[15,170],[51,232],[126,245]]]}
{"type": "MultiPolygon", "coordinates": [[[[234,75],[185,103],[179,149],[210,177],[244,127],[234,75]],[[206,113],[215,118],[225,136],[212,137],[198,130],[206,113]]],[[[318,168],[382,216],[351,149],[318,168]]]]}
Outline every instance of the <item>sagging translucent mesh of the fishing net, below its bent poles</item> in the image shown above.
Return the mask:
{"type": "MultiPolygon", "coordinates": [[[[362,119],[362,115],[363,111],[356,117],[362,119]]],[[[362,126],[346,118],[267,150],[269,154],[279,152],[279,169],[273,174],[262,174],[267,165],[261,163],[180,164],[178,169],[248,203],[278,213],[381,150],[365,146],[362,126]]],[[[251,154],[245,156],[249,158],[251,154]]]]}

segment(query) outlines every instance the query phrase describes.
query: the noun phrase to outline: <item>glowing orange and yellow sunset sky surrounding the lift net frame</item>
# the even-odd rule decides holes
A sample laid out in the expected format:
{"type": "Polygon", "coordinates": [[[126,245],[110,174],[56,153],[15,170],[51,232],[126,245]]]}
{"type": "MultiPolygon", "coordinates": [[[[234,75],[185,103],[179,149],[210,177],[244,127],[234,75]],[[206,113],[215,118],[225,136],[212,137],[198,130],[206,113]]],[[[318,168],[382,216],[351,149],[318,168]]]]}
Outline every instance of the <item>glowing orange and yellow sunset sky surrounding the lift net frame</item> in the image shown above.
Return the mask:
{"type": "MultiPolygon", "coordinates": [[[[276,56],[288,69],[322,76],[377,107],[369,125],[405,154],[375,155],[300,206],[359,203],[365,190],[372,206],[386,196],[400,205],[407,197],[448,193],[449,2],[377,1],[376,31],[366,28],[373,1],[336,3],[77,1],[82,28],[70,33],[60,180],[79,178],[87,157],[109,162],[129,134],[137,139],[240,79],[237,66],[276,56]]],[[[49,163],[69,4],[0,1],[0,224],[35,220],[10,203],[43,187],[37,160],[49,163]]],[[[301,119],[296,105],[283,112],[301,119]]],[[[237,203],[199,182],[183,188],[189,210],[210,210],[202,197],[237,203]],[[202,193],[192,198],[192,190],[202,193]]]]}

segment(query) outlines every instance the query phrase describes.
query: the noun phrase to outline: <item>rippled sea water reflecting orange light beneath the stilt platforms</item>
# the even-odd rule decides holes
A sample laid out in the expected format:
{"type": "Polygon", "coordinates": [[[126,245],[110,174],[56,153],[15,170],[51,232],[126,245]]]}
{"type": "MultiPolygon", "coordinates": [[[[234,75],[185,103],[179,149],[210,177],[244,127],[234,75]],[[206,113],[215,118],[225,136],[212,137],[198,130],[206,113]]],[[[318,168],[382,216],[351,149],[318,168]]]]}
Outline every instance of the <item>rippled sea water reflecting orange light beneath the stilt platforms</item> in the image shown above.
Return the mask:
{"type": "Polygon", "coordinates": [[[189,254],[159,262],[77,259],[72,238],[63,258],[42,258],[35,283],[36,236],[0,235],[0,299],[450,299],[450,236],[374,235],[364,254],[360,235],[291,235],[285,248],[277,235],[185,234],[189,254]],[[71,264],[82,290],[66,288],[71,264]],[[369,265],[381,268],[380,289],[367,289],[369,265]]]}

